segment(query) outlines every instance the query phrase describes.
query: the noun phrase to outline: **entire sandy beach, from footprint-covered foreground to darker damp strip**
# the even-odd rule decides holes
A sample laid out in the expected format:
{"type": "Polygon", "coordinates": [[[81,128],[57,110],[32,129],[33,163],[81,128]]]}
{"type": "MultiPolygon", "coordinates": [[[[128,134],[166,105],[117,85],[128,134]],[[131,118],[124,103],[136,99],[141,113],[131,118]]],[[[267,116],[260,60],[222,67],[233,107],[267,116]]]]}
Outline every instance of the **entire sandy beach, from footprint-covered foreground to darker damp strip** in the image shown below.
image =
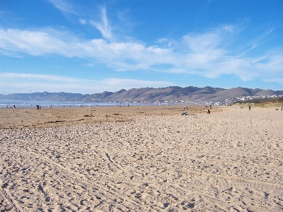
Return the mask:
{"type": "Polygon", "coordinates": [[[0,110],[1,211],[283,211],[274,108],[0,110]]]}

